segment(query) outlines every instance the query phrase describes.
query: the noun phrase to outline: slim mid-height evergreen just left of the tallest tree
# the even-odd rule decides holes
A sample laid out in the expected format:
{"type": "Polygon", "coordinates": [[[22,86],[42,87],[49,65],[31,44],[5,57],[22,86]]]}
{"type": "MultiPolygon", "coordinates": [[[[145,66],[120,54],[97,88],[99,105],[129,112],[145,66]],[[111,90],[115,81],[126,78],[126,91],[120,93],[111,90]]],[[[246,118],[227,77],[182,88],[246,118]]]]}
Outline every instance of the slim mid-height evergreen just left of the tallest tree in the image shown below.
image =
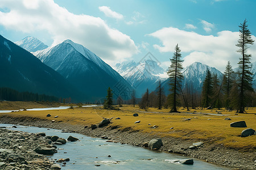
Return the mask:
{"type": "Polygon", "coordinates": [[[233,74],[234,71],[232,69],[232,66],[230,65],[230,62],[228,61],[228,64],[226,65],[226,69],[224,71],[224,84],[223,84],[223,91],[225,95],[225,107],[230,108],[230,91],[232,89],[233,82],[233,74]]]}

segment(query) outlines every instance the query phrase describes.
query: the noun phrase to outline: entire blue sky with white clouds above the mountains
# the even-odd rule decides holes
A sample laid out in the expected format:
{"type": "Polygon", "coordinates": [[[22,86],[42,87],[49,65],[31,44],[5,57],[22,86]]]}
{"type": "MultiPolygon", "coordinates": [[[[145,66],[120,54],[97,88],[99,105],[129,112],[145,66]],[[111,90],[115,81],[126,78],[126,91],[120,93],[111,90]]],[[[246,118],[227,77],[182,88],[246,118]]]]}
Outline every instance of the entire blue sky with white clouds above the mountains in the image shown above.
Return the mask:
{"type": "Polygon", "coordinates": [[[151,52],[165,69],[179,43],[184,67],[199,61],[224,71],[240,57],[238,24],[246,18],[256,35],[255,6],[254,0],[1,0],[0,33],[11,41],[34,36],[49,46],[71,39],[112,66],[151,52]]]}

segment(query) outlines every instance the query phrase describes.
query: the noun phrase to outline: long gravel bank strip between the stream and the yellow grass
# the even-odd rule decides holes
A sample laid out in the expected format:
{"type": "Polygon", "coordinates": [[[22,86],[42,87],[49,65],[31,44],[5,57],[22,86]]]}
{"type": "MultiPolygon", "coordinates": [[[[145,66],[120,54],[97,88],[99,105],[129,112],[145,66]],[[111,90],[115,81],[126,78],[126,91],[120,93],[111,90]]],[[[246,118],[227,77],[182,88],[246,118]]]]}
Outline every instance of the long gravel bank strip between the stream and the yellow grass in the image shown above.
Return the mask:
{"type": "MultiPolygon", "coordinates": [[[[20,124],[26,126],[38,126],[44,128],[63,129],[76,133],[85,134],[91,137],[102,137],[110,141],[127,143],[134,146],[143,146],[144,142],[150,142],[151,139],[159,138],[159,136],[145,134],[140,131],[126,128],[120,130],[118,126],[104,126],[102,128],[93,129],[91,126],[71,125],[64,122],[51,122],[49,120],[32,118],[32,117],[11,117],[1,116],[1,123],[20,124]]],[[[226,148],[222,145],[215,145],[214,142],[202,141],[199,146],[194,146],[193,143],[200,141],[187,140],[180,138],[165,138],[162,137],[162,151],[173,152],[184,156],[191,156],[204,160],[205,162],[221,165],[233,169],[255,169],[256,168],[256,151],[251,148],[251,151],[242,152],[226,148]]]]}

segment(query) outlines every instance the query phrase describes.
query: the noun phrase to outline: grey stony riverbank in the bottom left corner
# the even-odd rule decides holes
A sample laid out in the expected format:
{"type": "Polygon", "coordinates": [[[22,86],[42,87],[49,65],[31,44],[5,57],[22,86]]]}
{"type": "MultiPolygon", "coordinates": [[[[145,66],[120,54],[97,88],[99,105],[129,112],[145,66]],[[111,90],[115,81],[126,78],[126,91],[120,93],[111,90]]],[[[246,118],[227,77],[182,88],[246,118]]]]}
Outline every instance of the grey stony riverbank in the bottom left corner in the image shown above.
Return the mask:
{"type": "Polygon", "coordinates": [[[50,169],[53,160],[34,151],[47,142],[40,135],[0,128],[0,169],[50,169]]]}

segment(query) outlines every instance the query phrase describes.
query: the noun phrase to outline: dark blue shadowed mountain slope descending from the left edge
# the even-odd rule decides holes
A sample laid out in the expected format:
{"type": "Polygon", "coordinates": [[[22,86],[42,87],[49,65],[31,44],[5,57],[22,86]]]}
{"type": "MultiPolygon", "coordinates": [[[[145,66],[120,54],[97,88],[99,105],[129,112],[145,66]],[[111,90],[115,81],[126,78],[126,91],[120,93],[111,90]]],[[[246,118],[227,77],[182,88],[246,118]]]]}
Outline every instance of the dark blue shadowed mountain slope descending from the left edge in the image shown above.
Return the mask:
{"type": "Polygon", "coordinates": [[[80,92],[27,50],[0,36],[0,87],[57,97],[79,98],[80,92]]]}

